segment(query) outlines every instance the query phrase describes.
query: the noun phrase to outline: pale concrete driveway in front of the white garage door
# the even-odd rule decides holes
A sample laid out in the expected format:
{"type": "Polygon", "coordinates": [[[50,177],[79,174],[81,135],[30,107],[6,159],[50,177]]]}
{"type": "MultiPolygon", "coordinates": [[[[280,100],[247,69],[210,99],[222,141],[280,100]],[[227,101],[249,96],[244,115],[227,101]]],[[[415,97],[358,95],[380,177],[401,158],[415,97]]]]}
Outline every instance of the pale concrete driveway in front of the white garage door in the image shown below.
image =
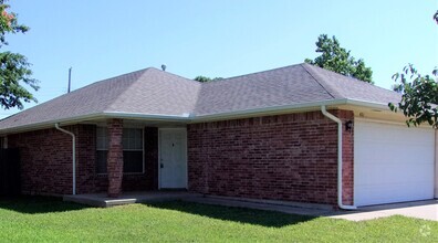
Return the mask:
{"type": "Polygon", "coordinates": [[[363,207],[356,211],[343,211],[330,218],[351,221],[373,220],[392,215],[404,215],[438,221],[438,200],[363,207]]]}

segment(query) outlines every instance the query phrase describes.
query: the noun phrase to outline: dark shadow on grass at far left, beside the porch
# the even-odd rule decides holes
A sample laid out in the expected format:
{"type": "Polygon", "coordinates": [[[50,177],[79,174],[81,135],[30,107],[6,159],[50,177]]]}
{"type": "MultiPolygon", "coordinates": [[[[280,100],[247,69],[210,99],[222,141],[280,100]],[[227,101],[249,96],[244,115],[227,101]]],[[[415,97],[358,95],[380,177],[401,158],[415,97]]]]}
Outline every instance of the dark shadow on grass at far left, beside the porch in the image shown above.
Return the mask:
{"type": "Polygon", "coordinates": [[[0,197],[0,210],[12,210],[20,213],[53,213],[82,210],[87,208],[71,202],[64,202],[61,198],[18,196],[13,198],[0,197]]]}

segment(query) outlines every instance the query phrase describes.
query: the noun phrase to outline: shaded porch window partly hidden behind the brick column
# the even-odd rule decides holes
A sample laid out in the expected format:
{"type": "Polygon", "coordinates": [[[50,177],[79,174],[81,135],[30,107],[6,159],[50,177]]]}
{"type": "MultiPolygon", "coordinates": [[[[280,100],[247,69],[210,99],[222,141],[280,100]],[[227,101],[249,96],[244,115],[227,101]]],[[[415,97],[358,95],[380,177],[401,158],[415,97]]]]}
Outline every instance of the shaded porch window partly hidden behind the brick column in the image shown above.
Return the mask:
{"type": "MultiPolygon", "coordinates": [[[[97,127],[96,131],[96,172],[106,173],[106,159],[108,154],[108,129],[97,127]]],[[[144,172],[143,129],[123,129],[123,171],[125,173],[144,172]]]]}

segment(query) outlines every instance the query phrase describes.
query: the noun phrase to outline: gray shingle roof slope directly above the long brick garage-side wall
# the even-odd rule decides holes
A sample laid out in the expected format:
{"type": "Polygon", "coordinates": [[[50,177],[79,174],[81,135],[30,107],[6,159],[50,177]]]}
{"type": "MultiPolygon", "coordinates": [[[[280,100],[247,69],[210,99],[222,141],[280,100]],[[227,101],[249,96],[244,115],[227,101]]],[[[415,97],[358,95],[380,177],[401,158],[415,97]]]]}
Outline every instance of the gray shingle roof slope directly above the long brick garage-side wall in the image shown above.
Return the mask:
{"type": "Polygon", "coordinates": [[[302,65],[206,83],[196,103],[196,115],[293,105],[333,97],[302,65]]]}

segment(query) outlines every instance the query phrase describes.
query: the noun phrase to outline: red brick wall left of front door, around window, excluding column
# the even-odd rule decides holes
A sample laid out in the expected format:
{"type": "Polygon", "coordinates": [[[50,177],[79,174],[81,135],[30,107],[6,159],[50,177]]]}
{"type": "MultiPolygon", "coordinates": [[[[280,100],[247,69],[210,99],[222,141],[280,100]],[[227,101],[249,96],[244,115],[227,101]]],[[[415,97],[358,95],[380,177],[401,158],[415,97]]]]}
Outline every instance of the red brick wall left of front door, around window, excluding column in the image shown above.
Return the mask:
{"type": "MultiPolygon", "coordinates": [[[[106,175],[95,173],[96,127],[63,127],[76,135],[76,193],[105,192],[106,175]]],[[[156,189],[158,163],[157,128],[145,128],[145,173],[124,175],[124,191],[156,189]]],[[[56,129],[43,129],[8,136],[10,148],[20,148],[23,193],[72,193],[72,139],[56,129]]]]}

